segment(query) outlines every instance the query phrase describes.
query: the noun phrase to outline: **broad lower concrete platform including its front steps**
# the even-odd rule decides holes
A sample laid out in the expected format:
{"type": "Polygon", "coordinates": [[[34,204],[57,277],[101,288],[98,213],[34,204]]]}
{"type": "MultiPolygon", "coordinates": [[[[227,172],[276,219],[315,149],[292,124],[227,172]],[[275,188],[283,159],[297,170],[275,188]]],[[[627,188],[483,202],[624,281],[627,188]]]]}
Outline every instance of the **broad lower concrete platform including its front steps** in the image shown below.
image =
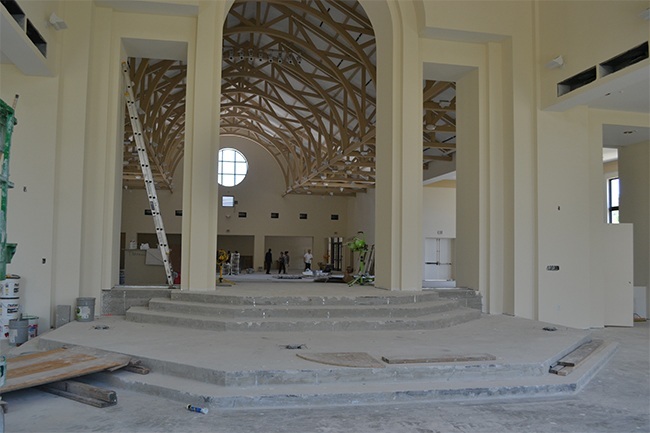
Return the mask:
{"type": "MultiPolygon", "coordinates": [[[[458,311],[463,309],[434,316],[458,311]]],[[[274,320],[288,322],[280,317],[268,323],[274,320]]],[[[364,318],[365,322],[372,320],[364,318]]],[[[115,316],[98,321],[69,323],[39,337],[39,348],[81,345],[127,354],[151,373],[120,370],[83,380],[110,387],[118,394],[119,389],[130,389],[213,408],[566,396],[579,391],[616,349],[616,343],[604,342],[570,374],[560,376],[549,372],[551,366],[567,355],[574,357],[576,349],[591,342],[589,331],[557,327],[549,332],[544,330],[546,323],[489,315],[440,329],[384,332],[214,332],[175,322],[170,322],[171,326],[136,323],[115,316]],[[351,352],[376,362],[341,366],[314,360],[319,355],[351,352]],[[382,361],[384,357],[472,359],[472,354],[489,354],[492,359],[382,361]]]]}

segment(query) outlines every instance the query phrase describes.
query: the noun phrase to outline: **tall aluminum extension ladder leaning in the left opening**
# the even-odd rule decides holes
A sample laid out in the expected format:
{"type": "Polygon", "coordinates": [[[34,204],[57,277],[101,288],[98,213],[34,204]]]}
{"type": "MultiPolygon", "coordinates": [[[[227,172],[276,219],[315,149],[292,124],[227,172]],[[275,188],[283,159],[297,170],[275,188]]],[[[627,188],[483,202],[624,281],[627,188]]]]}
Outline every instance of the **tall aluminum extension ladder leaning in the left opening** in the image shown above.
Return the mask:
{"type": "Polygon", "coordinates": [[[151,173],[151,166],[149,165],[149,156],[147,155],[144,136],[142,135],[142,124],[140,123],[140,117],[138,116],[138,107],[136,106],[135,97],[133,95],[133,82],[131,81],[129,64],[127,62],[122,62],[122,72],[124,74],[124,84],[126,86],[126,92],[124,92],[126,107],[129,110],[129,118],[131,119],[131,127],[133,129],[133,138],[135,139],[136,147],[138,149],[140,168],[142,168],[142,177],[144,178],[144,186],[147,189],[149,207],[151,208],[151,215],[153,216],[153,222],[156,226],[158,248],[160,249],[163,265],[165,266],[167,283],[172,286],[174,284],[174,276],[172,275],[172,266],[169,261],[167,234],[165,233],[162,216],[160,215],[160,205],[158,204],[158,196],[156,195],[156,186],[153,182],[153,174],[151,173]]]}

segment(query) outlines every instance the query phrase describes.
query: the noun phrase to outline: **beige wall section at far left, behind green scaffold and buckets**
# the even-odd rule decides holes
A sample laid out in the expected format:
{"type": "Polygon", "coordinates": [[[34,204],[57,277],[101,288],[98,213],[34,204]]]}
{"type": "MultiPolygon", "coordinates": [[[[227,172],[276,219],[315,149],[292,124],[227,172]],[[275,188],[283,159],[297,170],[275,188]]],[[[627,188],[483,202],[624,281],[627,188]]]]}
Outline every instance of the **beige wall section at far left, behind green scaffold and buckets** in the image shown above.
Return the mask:
{"type": "Polygon", "coordinates": [[[25,312],[48,329],[53,302],[54,180],[57,146],[58,78],[25,77],[13,65],[0,65],[0,97],[16,107],[7,197],[7,241],[18,244],[7,273],[22,277],[25,312]],[[43,263],[45,259],[45,263],[43,263]]]}

